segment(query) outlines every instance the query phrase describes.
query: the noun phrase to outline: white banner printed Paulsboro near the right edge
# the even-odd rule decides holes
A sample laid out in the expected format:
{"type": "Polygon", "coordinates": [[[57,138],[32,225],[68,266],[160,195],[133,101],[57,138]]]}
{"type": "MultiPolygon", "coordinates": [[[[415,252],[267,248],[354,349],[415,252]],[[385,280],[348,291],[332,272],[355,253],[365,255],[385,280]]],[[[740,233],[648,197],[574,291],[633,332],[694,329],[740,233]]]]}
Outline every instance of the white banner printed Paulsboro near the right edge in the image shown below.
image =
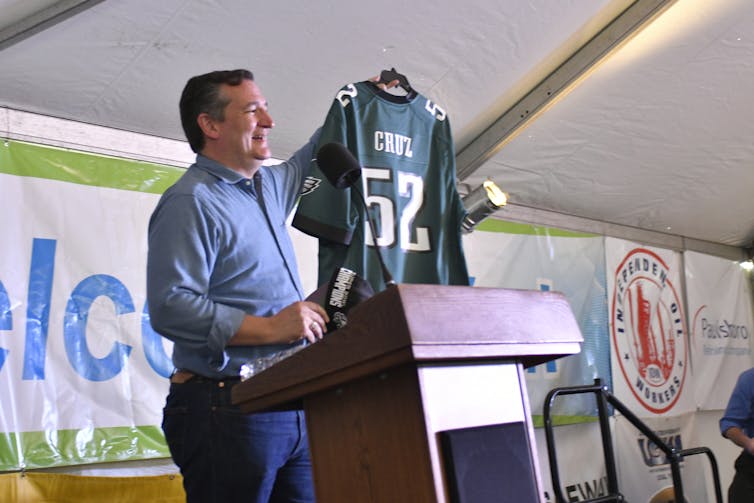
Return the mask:
{"type": "Polygon", "coordinates": [[[686,252],[694,400],[724,409],[738,375],[751,368],[750,283],[738,262],[686,252]]]}

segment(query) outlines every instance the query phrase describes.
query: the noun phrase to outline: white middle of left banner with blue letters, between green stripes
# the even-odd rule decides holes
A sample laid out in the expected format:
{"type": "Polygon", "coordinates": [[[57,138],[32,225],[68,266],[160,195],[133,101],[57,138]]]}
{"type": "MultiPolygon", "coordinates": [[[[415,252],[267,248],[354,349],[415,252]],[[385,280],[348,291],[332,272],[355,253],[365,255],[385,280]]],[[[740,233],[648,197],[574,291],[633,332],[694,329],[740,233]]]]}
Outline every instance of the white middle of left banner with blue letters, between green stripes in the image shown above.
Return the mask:
{"type": "Polygon", "coordinates": [[[3,174],[0,187],[14,208],[0,214],[14,243],[0,266],[12,324],[0,386],[24,397],[3,400],[4,431],[159,424],[170,349],[142,323],[159,196],[3,174]]]}

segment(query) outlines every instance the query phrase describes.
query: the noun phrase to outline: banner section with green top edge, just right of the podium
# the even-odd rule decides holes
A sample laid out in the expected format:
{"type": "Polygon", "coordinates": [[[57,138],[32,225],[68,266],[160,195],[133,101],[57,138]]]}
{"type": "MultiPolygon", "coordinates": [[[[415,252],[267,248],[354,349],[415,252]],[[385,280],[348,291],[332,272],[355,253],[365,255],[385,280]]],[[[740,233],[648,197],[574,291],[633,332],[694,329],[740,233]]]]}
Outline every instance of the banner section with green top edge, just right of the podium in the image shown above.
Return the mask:
{"type": "MultiPolygon", "coordinates": [[[[526,385],[533,414],[555,387],[610,384],[605,258],[601,236],[488,220],[466,236],[475,286],[553,290],[565,295],[584,337],[581,353],[530,368],[526,385]]],[[[593,397],[558,400],[557,415],[593,416],[593,397]]]]}

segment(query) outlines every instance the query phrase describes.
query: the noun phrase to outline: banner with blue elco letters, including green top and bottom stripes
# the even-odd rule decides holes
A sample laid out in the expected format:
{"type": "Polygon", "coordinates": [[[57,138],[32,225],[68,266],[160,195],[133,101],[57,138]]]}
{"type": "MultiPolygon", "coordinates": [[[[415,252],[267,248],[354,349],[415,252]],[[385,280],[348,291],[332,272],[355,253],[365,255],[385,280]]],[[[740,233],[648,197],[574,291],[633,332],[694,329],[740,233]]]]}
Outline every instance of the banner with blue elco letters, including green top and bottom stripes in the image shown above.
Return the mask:
{"type": "Polygon", "coordinates": [[[169,455],[146,230],[181,172],[0,146],[0,470],[169,455]]]}

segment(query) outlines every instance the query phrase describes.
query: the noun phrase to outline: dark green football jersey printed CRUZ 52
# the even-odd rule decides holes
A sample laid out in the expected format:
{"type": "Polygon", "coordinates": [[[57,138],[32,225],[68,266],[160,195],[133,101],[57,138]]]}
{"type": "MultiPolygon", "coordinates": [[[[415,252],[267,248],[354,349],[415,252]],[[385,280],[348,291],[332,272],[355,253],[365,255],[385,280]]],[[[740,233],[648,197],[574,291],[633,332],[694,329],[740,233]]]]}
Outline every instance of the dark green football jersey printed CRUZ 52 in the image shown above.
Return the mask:
{"type": "Polygon", "coordinates": [[[348,84],[333,100],[317,150],[330,142],[346,145],[362,174],[356,186],[336,189],[313,161],[293,226],[319,238],[319,283],[343,266],[382,290],[379,260],[370,249],[379,246],[397,283],[468,285],[465,210],[445,111],[420,94],[348,84]],[[376,236],[355,190],[363,194],[376,236]]]}

